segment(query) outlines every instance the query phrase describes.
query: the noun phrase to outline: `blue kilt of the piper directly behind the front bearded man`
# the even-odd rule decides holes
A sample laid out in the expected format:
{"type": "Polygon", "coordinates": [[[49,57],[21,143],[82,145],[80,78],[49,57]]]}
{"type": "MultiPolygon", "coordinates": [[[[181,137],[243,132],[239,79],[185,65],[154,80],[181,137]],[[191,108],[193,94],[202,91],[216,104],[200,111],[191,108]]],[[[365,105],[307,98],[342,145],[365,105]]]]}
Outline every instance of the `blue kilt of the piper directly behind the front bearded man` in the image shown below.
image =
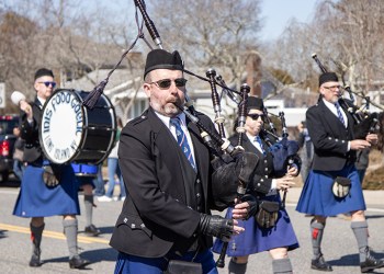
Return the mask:
{"type": "MultiPolygon", "coordinates": [[[[281,203],[279,194],[267,196],[262,199],[281,203]]],[[[231,218],[231,210],[233,208],[228,208],[226,218],[231,218]]],[[[228,256],[245,256],[283,247],[286,247],[289,250],[298,248],[298,241],[291,219],[283,208],[279,210],[276,225],[269,229],[260,228],[253,217],[248,220],[238,220],[238,226],[244,227],[245,231],[234,236],[228,242],[228,256]]],[[[216,239],[213,246],[213,252],[221,253],[223,241],[216,239]]]]}

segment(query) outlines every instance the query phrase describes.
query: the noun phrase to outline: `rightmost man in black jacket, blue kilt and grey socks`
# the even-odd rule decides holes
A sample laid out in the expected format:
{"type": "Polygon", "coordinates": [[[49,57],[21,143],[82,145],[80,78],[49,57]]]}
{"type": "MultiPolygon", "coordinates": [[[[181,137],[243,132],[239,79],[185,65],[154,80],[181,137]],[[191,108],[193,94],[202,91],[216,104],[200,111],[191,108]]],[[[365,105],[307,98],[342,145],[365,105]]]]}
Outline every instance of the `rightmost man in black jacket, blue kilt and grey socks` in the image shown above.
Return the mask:
{"type": "Polygon", "coordinates": [[[353,117],[340,106],[340,83],[335,72],[319,77],[319,100],[306,112],[307,128],[315,148],[312,170],[305,181],[296,210],[314,215],[310,221],[313,270],[332,271],[321,252],[321,241],[328,216],[351,214],[351,229],[359,247],[361,272],[383,267],[368,246],[365,202],[354,168],[355,153],[376,144],[377,135],[355,139],[353,117]]]}

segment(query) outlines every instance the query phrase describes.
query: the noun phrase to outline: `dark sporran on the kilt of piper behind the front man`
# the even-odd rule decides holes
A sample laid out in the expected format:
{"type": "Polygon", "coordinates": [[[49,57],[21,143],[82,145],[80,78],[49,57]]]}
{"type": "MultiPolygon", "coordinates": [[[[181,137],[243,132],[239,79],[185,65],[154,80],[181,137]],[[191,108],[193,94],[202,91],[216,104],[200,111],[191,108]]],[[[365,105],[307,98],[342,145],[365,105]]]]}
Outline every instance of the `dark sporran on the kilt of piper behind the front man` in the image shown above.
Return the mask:
{"type": "Polygon", "coordinates": [[[279,217],[280,204],[278,202],[262,201],[256,215],[256,222],[261,228],[274,227],[279,217]]]}

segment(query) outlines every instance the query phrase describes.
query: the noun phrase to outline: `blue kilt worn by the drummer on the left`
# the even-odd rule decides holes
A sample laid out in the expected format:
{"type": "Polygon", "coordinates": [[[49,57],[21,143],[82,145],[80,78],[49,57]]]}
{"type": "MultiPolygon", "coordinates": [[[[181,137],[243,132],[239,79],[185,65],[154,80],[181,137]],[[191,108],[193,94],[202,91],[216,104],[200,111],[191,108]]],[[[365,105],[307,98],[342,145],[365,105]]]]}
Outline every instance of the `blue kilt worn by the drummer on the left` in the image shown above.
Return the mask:
{"type": "Polygon", "coordinates": [[[70,164],[64,164],[61,180],[49,187],[43,181],[43,168],[26,167],[13,215],[20,217],[47,217],[79,215],[78,182],[70,164]]]}

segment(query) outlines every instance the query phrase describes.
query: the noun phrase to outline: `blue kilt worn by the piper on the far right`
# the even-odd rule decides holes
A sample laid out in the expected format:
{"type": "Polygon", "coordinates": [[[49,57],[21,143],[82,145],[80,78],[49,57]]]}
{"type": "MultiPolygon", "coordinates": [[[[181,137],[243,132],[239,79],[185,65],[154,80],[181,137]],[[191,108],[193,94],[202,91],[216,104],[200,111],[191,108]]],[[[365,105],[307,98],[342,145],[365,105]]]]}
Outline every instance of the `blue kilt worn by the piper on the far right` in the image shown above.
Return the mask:
{"type": "Polygon", "coordinates": [[[312,170],[305,181],[296,207],[300,213],[325,217],[365,209],[359,174],[353,164],[332,172],[312,170]],[[332,194],[332,184],[336,176],[345,176],[351,180],[350,192],[345,198],[338,198],[332,194]]]}

